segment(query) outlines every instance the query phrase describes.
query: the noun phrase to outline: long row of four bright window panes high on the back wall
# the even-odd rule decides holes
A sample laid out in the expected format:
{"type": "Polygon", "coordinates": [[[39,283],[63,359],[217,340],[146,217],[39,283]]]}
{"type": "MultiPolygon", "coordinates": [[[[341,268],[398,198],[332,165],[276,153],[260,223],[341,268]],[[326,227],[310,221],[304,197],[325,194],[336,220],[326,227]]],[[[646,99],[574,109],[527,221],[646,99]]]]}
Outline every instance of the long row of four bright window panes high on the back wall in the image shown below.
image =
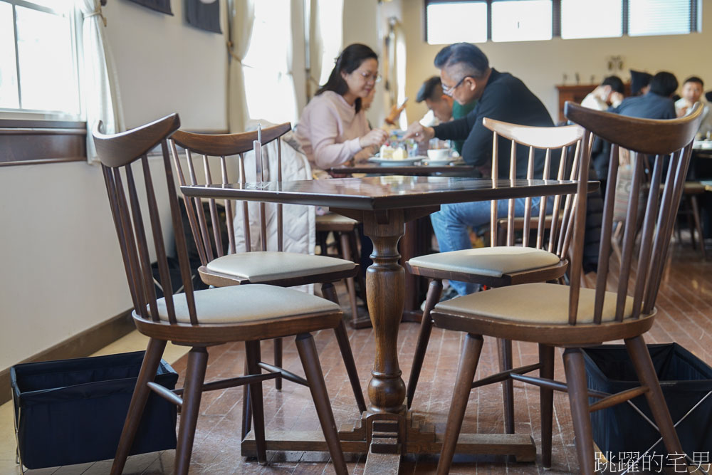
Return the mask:
{"type": "Polygon", "coordinates": [[[430,44],[701,31],[701,0],[425,0],[430,44]]]}

